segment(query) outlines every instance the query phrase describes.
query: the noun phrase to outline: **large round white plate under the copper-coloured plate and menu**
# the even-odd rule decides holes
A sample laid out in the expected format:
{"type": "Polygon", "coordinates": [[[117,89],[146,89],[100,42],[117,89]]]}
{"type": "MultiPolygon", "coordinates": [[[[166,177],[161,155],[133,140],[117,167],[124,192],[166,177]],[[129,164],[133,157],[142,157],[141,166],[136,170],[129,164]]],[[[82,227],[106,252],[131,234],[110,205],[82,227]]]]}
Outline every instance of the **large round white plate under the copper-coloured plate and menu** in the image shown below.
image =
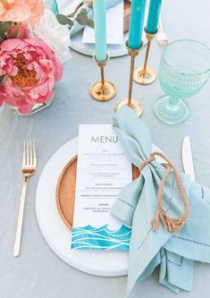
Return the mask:
{"type": "MultiPolygon", "coordinates": [[[[154,146],[154,150],[159,150],[154,146]]],[[[63,167],[78,152],[78,138],[68,141],[47,162],[38,182],[36,213],[46,243],[66,263],[89,274],[118,277],[128,274],[128,251],[73,251],[71,231],[64,225],[56,202],[55,190],[63,167]]]]}

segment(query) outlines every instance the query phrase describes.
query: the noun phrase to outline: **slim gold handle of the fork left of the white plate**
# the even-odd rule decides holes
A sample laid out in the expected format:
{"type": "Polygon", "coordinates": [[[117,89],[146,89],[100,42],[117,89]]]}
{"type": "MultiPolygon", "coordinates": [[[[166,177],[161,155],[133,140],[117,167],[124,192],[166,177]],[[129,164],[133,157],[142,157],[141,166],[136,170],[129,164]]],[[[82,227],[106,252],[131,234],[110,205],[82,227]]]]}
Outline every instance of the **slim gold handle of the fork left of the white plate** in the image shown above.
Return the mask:
{"type": "Polygon", "coordinates": [[[21,231],[22,231],[22,222],[23,222],[23,215],[24,215],[25,198],[26,198],[26,186],[28,181],[29,181],[29,177],[23,178],[13,257],[18,257],[20,255],[20,250],[21,250],[21,231]]]}

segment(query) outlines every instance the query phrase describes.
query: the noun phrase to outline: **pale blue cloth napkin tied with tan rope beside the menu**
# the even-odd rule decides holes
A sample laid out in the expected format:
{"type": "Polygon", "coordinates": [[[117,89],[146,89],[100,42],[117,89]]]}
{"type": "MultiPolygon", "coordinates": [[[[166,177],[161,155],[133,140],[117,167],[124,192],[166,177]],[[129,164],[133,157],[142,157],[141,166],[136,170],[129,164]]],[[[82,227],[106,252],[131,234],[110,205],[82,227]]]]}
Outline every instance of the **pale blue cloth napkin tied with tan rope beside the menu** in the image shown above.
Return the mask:
{"type": "MultiPolygon", "coordinates": [[[[119,135],[130,161],[135,166],[150,157],[152,140],[149,130],[129,107],[113,116],[114,131],[119,135]]],[[[142,167],[141,167],[142,168],[142,167]]],[[[135,181],[122,188],[112,214],[132,227],[128,293],[137,283],[150,276],[159,266],[159,282],[173,292],[191,291],[194,261],[210,262],[210,190],[181,175],[189,200],[189,217],[178,234],[164,230],[160,223],[155,231],[151,220],[157,210],[157,192],[166,168],[155,160],[141,169],[135,181]]],[[[164,184],[163,209],[169,217],[181,217],[181,201],[174,172],[164,184]]]]}

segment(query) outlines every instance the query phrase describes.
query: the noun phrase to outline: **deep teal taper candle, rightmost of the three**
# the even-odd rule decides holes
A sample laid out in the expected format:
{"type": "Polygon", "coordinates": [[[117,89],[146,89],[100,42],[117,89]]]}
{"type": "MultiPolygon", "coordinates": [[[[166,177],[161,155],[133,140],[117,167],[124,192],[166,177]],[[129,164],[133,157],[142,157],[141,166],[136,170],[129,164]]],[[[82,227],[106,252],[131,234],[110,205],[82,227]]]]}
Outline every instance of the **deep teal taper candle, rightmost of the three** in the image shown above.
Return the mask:
{"type": "Polygon", "coordinates": [[[157,31],[162,0],[150,0],[146,32],[154,34],[157,31]]]}

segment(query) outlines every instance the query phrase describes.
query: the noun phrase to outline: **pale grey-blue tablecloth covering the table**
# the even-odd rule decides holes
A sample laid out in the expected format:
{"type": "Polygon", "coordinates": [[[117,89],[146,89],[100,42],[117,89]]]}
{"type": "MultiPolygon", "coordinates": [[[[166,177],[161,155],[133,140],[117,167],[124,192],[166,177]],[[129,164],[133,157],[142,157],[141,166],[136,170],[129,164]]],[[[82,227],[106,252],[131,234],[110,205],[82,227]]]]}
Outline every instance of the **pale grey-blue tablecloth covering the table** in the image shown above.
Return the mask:
{"type": "MultiPolygon", "coordinates": [[[[171,40],[194,38],[210,46],[209,0],[163,1],[164,29],[171,40]]],[[[154,40],[149,63],[158,68],[163,51],[154,40]]],[[[137,58],[143,63],[145,49],[137,58]]],[[[118,88],[116,98],[98,102],[88,95],[89,85],[98,79],[99,71],[92,59],[72,52],[64,64],[63,80],[56,85],[52,106],[36,115],[14,115],[8,107],[0,109],[0,297],[1,298],[122,298],[127,277],[94,277],[71,268],[46,244],[35,214],[38,178],[47,160],[66,141],[78,135],[80,123],[111,123],[113,106],[127,95],[130,60],[113,58],[105,68],[106,78],[118,88]],[[27,191],[21,256],[13,258],[13,243],[21,193],[22,141],[34,139],[37,144],[38,171],[31,177],[27,191]]],[[[158,81],[149,86],[134,84],[134,98],[144,106],[142,119],[147,123],[153,141],[181,167],[181,143],[189,135],[192,141],[196,178],[210,187],[210,82],[194,98],[188,99],[189,119],[180,125],[159,122],[152,112],[155,98],[163,94],[158,81]]],[[[45,200],[45,198],[43,198],[45,200]]],[[[209,297],[210,265],[197,263],[191,293],[180,297],[209,297]]],[[[177,297],[149,277],[137,285],[130,298],[177,297]]]]}

